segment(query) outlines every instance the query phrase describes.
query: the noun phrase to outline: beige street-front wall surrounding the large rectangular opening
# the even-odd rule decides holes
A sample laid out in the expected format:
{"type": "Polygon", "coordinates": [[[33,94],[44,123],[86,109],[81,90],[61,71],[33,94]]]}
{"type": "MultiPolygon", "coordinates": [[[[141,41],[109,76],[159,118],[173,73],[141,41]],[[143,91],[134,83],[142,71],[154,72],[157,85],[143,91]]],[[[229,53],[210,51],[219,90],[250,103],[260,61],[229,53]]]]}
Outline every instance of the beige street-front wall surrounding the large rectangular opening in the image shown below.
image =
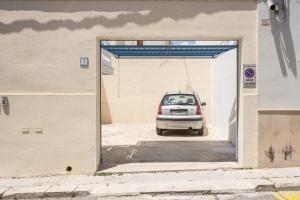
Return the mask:
{"type": "MultiPolygon", "coordinates": [[[[0,176],[97,170],[100,39],[238,39],[239,66],[256,64],[257,2],[1,1],[0,94],[10,113],[0,114],[0,176]],[[26,127],[43,133],[22,134],[26,127]]],[[[240,89],[239,161],[254,167],[256,98],[240,89]]]]}

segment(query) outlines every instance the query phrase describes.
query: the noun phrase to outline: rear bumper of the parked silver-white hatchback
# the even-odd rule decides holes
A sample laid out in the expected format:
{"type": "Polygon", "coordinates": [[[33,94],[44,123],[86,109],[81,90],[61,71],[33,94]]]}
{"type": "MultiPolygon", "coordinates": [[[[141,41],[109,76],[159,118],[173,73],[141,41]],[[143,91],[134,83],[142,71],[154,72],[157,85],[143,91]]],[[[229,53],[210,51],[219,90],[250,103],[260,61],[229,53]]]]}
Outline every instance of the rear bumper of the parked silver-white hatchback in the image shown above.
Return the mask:
{"type": "Polygon", "coordinates": [[[160,129],[201,129],[202,116],[157,116],[156,127],[160,129]]]}

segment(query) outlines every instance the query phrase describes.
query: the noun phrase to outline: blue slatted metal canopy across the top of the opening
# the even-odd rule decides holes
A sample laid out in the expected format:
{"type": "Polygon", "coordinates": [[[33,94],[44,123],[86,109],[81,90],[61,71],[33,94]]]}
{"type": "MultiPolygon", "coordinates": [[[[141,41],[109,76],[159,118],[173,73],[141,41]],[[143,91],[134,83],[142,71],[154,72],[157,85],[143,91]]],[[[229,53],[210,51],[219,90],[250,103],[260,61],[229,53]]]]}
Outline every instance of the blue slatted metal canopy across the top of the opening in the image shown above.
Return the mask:
{"type": "Polygon", "coordinates": [[[118,58],[128,57],[210,57],[237,48],[237,45],[101,45],[118,58]]]}

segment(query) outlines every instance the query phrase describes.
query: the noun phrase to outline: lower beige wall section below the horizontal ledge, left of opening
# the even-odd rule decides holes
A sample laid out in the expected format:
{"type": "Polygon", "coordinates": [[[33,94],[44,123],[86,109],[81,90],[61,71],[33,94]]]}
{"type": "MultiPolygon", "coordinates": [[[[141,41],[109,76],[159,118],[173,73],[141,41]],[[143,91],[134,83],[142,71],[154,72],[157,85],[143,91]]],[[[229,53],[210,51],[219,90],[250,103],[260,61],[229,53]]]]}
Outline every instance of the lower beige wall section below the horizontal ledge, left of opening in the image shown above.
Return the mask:
{"type": "Polygon", "coordinates": [[[0,111],[1,176],[57,174],[68,166],[76,173],[95,170],[95,112],[86,106],[96,104],[93,95],[14,94],[8,99],[9,111],[0,111]]]}

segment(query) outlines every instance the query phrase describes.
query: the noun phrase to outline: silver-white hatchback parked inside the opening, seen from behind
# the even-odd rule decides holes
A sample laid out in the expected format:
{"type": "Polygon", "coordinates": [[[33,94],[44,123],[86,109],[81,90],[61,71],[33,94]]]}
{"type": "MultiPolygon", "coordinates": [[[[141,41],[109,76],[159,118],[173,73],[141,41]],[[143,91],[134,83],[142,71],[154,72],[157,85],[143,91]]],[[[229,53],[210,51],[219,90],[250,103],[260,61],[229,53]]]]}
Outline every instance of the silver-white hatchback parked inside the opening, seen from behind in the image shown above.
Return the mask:
{"type": "Polygon", "coordinates": [[[163,130],[193,129],[203,135],[202,106],[195,93],[166,93],[158,107],[156,117],[156,133],[162,135],[163,130]]]}

